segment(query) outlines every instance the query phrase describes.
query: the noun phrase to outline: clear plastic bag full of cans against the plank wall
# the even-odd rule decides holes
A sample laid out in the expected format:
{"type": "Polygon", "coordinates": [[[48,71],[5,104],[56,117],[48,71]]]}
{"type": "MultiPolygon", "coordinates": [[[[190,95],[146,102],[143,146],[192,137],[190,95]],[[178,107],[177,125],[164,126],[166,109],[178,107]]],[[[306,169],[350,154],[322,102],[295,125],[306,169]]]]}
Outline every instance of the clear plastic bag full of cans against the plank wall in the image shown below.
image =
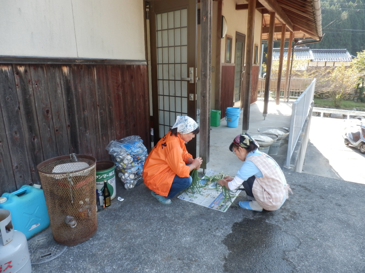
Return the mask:
{"type": "Polygon", "coordinates": [[[141,184],[147,148],[138,135],[131,135],[119,141],[111,141],[105,149],[112,156],[116,173],[126,189],[132,189],[141,184]]]}

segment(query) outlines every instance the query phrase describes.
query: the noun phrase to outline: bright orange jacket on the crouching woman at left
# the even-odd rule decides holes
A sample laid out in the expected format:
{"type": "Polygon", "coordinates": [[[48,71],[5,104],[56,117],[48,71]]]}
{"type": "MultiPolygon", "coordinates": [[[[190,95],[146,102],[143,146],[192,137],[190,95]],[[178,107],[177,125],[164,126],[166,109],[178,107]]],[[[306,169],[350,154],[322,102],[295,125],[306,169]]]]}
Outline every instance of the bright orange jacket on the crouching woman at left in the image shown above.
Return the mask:
{"type": "Polygon", "coordinates": [[[185,147],[185,142],[170,131],[151,150],[143,166],[143,181],[155,193],[167,196],[172,181],[179,177],[189,177],[188,158],[193,157],[185,147]]]}

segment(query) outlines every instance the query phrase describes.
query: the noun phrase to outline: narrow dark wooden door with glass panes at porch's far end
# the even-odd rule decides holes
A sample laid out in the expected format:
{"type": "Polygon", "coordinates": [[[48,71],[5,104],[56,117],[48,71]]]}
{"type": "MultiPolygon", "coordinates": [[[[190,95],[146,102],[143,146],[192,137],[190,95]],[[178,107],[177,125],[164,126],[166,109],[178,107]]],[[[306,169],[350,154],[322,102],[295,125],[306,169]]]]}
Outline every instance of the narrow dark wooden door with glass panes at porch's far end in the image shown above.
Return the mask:
{"type": "Polygon", "coordinates": [[[233,107],[242,106],[246,35],[236,32],[233,107]]]}

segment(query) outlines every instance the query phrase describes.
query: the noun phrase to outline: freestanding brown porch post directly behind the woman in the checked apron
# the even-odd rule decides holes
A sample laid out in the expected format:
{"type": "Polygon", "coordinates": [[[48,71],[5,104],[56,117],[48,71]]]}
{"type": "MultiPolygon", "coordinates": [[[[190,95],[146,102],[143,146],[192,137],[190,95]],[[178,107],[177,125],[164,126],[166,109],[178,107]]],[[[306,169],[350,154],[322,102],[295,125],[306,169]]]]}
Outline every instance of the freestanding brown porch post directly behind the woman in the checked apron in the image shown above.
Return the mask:
{"type": "Polygon", "coordinates": [[[247,132],[249,130],[255,11],[256,11],[256,0],[250,0],[248,9],[248,18],[247,18],[247,35],[246,35],[246,71],[245,71],[245,81],[244,81],[245,85],[243,86],[243,96],[242,96],[243,100],[242,132],[247,132]]]}

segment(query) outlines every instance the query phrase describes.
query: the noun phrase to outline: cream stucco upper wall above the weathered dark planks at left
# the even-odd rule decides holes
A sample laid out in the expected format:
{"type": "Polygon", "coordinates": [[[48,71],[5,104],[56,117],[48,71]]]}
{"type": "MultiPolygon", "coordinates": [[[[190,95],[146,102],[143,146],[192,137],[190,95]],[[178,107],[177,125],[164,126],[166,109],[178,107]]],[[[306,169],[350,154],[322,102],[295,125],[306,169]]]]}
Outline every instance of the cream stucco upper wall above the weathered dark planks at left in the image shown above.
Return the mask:
{"type": "Polygon", "coordinates": [[[0,0],[0,55],[145,60],[143,1],[0,0]]]}

